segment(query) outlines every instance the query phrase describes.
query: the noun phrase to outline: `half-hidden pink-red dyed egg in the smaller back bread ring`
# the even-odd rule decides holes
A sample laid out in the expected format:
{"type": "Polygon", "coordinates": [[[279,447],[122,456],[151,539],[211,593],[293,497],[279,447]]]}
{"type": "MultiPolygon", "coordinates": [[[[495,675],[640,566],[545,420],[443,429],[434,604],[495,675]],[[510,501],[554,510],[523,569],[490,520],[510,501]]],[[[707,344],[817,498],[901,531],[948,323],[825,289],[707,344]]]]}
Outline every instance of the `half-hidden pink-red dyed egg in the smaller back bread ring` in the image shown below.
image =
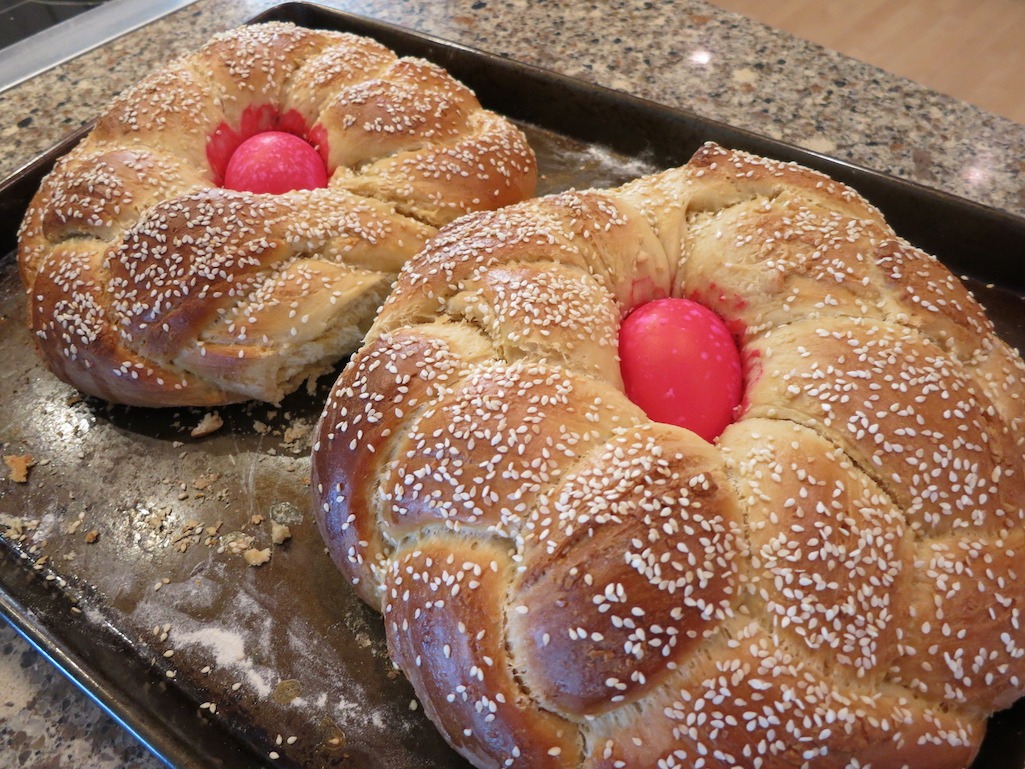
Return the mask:
{"type": "Polygon", "coordinates": [[[224,187],[271,195],[316,190],[327,187],[327,169],[320,154],[298,136],[264,131],[247,138],[232,154],[224,187]]]}

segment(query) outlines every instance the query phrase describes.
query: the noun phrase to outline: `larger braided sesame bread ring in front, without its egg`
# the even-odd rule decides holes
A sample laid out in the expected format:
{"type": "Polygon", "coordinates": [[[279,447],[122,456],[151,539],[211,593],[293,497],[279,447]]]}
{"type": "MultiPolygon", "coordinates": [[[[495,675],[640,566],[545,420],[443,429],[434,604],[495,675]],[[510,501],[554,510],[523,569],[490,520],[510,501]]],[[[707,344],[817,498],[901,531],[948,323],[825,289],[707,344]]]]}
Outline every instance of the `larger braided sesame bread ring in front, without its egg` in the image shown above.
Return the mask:
{"type": "Polygon", "coordinates": [[[1025,692],[1023,381],[854,191],[709,145],[434,238],[326,405],[316,510],[479,767],[963,767],[1025,692]],[[743,356],[711,443],[623,394],[665,295],[743,356]]]}

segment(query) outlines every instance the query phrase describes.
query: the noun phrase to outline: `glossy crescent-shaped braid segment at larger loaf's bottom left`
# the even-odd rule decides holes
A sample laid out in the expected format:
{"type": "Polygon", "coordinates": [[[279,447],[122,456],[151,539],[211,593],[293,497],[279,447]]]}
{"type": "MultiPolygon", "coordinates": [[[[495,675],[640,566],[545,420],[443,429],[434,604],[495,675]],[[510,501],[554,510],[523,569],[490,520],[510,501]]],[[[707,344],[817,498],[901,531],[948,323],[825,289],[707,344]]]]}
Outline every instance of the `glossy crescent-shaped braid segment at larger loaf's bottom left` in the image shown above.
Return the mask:
{"type": "Polygon", "coordinates": [[[501,767],[509,757],[538,769],[576,766],[580,734],[525,696],[504,618],[490,610],[514,568],[500,543],[451,532],[397,553],[385,576],[388,649],[446,739],[478,766],[501,767]]]}

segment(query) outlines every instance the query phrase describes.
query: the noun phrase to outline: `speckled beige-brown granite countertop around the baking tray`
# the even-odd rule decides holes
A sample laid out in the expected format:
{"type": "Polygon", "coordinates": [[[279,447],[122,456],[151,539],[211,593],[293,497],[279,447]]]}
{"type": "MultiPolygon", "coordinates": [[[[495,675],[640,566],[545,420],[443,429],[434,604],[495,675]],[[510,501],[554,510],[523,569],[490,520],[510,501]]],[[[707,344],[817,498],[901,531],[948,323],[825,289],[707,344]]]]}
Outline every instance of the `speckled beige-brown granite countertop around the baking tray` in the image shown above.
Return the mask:
{"type": "MultiPolygon", "coordinates": [[[[274,3],[199,0],[0,93],[0,177],[173,54],[274,3]]],[[[1025,215],[1025,126],[699,0],[324,3],[1025,215]]],[[[0,767],[163,766],[0,623],[0,767]]]]}

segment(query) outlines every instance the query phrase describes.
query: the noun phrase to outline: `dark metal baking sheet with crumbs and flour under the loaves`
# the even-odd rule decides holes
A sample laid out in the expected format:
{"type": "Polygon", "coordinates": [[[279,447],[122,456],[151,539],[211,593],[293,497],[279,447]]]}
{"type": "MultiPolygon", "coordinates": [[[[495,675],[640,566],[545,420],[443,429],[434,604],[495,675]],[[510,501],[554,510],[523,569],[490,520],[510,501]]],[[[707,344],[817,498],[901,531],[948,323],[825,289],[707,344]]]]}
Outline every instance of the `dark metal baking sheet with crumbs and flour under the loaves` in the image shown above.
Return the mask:
{"type": "MultiPolygon", "coordinates": [[[[254,21],[266,19],[369,35],[446,67],[524,126],[542,192],[680,164],[706,139],[819,168],[971,276],[1000,333],[1025,346],[1025,219],[371,19],[302,3],[254,21]]],[[[277,408],[218,409],[224,427],[194,439],[204,410],[82,399],[41,365],[10,251],[42,174],[75,140],[0,186],[0,444],[37,462],[28,483],[0,481],[0,612],[178,769],[466,766],[417,707],[306,510],[309,430],[330,376],[277,408]],[[291,539],[273,544],[272,520],[291,539]],[[269,563],[233,552],[246,537],[269,563]]],[[[977,765],[1021,767],[1023,732],[1025,705],[994,717],[977,765]]]]}

